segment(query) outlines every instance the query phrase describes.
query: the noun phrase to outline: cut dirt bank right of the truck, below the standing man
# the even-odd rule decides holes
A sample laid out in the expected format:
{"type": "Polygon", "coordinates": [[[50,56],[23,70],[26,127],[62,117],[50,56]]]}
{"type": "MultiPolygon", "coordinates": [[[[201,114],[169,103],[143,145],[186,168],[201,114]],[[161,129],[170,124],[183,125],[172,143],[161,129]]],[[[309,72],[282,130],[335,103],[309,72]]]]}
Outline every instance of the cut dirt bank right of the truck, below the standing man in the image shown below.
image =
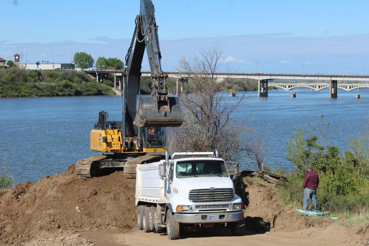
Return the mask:
{"type": "Polygon", "coordinates": [[[368,223],[350,227],[339,225],[340,220],[329,217],[306,218],[294,208],[281,205],[273,185],[250,179],[246,173],[237,179],[235,189],[244,201],[245,227],[250,231],[280,232],[284,235],[293,232],[297,238],[337,243],[363,244],[369,241],[368,223]]]}

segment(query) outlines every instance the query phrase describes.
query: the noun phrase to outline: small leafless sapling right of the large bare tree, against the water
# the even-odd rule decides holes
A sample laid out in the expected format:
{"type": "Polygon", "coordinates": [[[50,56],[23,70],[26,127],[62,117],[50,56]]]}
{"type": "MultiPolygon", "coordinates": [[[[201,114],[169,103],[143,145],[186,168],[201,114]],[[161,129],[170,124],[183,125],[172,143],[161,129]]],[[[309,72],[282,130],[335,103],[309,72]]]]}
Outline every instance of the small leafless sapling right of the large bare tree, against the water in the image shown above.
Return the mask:
{"type": "Polygon", "coordinates": [[[268,156],[267,143],[262,135],[255,135],[249,142],[246,143],[246,153],[248,159],[258,166],[259,171],[262,170],[262,163],[268,156]]]}

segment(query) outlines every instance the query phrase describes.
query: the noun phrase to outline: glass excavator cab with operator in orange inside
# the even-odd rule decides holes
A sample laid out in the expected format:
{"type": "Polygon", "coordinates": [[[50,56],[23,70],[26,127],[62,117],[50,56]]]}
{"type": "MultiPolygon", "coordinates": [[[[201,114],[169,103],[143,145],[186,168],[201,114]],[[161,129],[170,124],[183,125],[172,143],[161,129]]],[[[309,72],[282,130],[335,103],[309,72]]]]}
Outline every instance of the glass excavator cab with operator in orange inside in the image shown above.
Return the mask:
{"type": "Polygon", "coordinates": [[[142,127],[141,136],[144,152],[164,152],[166,146],[165,127],[142,127]]]}

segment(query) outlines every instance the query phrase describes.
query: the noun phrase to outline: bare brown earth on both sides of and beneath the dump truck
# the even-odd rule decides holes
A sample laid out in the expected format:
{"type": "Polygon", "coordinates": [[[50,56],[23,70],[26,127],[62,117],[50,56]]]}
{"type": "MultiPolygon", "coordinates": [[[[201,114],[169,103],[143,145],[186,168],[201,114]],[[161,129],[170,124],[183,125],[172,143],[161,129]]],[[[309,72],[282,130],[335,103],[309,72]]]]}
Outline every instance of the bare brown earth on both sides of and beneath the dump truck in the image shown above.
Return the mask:
{"type": "MultiPolygon", "coordinates": [[[[165,233],[136,231],[134,179],[125,179],[122,171],[93,179],[73,171],[72,165],[64,174],[20,183],[0,196],[0,245],[169,245],[165,233]]],[[[178,242],[293,245],[308,240],[310,245],[363,245],[369,241],[369,224],[347,227],[330,218],[304,218],[280,205],[272,186],[246,176],[237,180],[236,193],[246,205],[244,237],[209,230],[184,233],[178,242]]]]}

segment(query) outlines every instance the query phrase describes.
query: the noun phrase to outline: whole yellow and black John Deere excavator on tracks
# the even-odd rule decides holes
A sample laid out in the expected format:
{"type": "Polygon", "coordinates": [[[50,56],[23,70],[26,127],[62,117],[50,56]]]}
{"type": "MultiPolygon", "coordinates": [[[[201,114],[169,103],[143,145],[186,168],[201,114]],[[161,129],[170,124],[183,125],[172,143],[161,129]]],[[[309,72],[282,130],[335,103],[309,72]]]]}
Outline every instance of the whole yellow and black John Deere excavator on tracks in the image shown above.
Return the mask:
{"type": "Polygon", "coordinates": [[[124,177],[135,178],[137,164],[156,162],[166,147],[166,127],[182,125],[182,109],[178,97],[171,97],[162,71],[158,26],[151,0],[141,0],[135,19],[131,45],[125,56],[121,121],[108,120],[108,113],[99,112],[99,119],[90,132],[90,149],[102,152],[78,160],[75,174],[94,177],[106,167],[123,167],[124,177]],[[146,53],[152,77],[151,96],[141,96],[141,63],[146,53]],[[147,155],[155,153],[155,155],[147,155]]]}

